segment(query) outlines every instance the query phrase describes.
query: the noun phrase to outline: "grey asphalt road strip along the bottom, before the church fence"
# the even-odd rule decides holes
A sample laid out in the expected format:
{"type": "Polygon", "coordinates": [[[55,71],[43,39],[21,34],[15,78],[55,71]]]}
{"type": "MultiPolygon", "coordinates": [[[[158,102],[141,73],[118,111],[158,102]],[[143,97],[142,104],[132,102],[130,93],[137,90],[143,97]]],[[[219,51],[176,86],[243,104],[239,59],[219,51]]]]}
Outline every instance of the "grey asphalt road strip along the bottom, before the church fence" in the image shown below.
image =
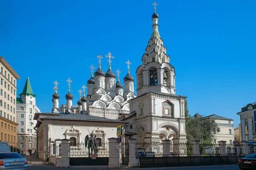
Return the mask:
{"type": "MultiPolygon", "coordinates": [[[[108,169],[106,167],[70,167],[70,168],[56,168],[53,165],[39,165],[29,166],[29,170],[117,170],[108,169]]],[[[143,168],[128,168],[123,167],[121,170],[143,170],[143,168]]],[[[159,168],[144,168],[146,170],[239,170],[237,165],[220,165],[220,166],[199,166],[199,167],[159,167],[159,168]]]]}

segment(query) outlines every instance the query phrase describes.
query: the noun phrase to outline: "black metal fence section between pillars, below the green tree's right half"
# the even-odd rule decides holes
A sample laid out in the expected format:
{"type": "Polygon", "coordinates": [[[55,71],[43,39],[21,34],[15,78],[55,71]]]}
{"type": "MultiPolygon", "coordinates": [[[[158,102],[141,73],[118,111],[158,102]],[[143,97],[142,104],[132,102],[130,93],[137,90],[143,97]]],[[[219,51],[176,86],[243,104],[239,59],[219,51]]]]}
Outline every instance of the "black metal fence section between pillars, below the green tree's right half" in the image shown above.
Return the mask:
{"type": "Polygon", "coordinates": [[[200,143],[199,144],[200,155],[219,155],[220,154],[220,145],[212,143],[200,143]]]}

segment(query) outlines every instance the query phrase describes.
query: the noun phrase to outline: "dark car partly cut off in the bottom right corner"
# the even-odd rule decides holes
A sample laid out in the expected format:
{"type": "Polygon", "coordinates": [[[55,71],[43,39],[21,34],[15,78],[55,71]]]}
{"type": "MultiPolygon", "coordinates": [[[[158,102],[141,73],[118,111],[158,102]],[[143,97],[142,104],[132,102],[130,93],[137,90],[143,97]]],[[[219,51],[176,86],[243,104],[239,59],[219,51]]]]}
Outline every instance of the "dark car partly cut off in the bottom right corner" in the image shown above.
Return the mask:
{"type": "Polygon", "coordinates": [[[241,170],[256,170],[256,153],[252,153],[240,159],[238,167],[241,170]]]}

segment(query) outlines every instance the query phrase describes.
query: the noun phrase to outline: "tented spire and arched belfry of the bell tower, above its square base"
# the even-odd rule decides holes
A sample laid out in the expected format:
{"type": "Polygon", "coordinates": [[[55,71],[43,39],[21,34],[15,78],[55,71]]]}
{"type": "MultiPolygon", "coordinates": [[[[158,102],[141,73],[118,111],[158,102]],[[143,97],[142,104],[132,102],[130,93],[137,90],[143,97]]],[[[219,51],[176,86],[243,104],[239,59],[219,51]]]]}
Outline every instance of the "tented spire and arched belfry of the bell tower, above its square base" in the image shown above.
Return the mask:
{"type": "Polygon", "coordinates": [[[158,31],[159,15],[152,14],[153,31],[142,56],[142,65],[137,68],[137,95],[150,91],[175,94],[175,69],[169,63],[166,47],[158,31]]]}

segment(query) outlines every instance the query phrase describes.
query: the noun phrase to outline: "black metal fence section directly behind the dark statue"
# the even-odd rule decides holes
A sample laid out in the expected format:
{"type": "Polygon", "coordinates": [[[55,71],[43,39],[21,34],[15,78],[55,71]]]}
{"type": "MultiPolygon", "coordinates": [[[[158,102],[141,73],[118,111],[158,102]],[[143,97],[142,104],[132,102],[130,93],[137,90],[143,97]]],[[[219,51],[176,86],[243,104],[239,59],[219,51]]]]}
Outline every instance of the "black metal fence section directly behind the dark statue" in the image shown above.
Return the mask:
{"type": "MultiPolygon", "coordinates": [[[[96,149],[98,150],[98,157],[105,157],[109,155],[108,142],[97,143],[96,149]]],[[[69,144],[70,157],[90,157],[94,154],[92,148],[88,148],[88,144],[81,143],[70,143],[69,144]]]]}

